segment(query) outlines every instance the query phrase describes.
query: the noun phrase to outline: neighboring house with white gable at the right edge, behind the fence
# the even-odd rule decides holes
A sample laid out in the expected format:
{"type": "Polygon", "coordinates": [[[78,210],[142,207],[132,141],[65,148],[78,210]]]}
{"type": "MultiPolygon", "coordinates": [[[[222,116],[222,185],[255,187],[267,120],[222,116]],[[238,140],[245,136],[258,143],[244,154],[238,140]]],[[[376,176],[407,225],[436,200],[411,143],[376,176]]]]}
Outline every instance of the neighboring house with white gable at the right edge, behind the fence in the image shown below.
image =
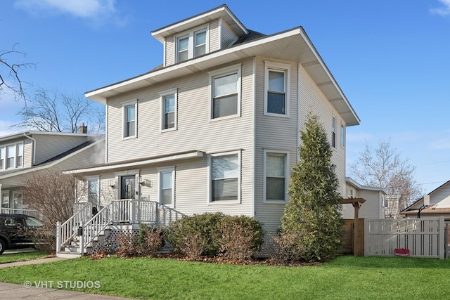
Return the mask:
{"type": "Polygon", "coordinates": [[[445,221],[450,221],[450,181],[400,211],[400,216],[406,218],[444,216],[445,221]]]}

